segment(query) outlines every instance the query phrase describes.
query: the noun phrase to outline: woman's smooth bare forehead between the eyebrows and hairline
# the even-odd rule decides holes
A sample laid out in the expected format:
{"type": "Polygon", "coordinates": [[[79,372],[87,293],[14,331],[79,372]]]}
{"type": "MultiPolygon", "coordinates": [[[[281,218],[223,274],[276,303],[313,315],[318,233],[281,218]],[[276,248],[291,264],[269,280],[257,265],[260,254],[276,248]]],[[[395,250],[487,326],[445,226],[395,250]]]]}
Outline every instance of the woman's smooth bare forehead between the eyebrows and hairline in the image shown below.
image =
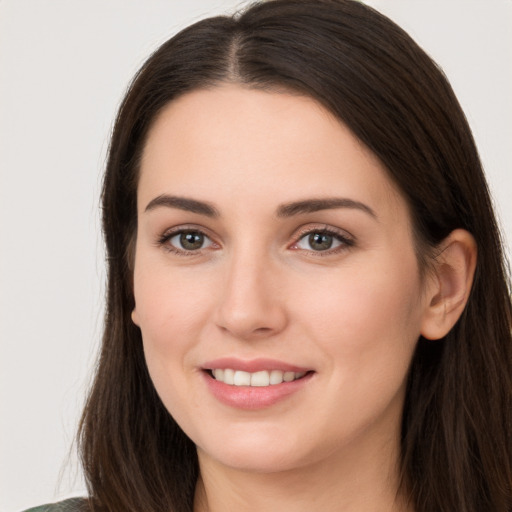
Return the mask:
{"type": "Polygon", "coordinates": [[[341,194],[395,213],[404,203],[379,160],[317,101],[238,85],[187,93],[160,112],[139,198],[162,193],[230,205],[259,196],[262,206],[341,194]]]}

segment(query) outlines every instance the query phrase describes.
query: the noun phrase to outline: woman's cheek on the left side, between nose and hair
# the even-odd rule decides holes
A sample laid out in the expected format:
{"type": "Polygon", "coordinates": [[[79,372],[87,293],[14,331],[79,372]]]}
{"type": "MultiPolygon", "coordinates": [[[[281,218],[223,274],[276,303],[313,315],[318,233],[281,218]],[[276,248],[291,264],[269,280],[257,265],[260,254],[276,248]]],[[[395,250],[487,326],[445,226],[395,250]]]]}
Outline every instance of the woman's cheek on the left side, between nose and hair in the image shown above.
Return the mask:
{"type": "Polygon", "coordinates": [[[198,269],[169,268],[144,253],[136,261],[134,315],[151,380],[173,415],[193,406],[184,397],[193,400],[187,381],[197,371],[202,330],[212,315],[214,278],[198,269]]]}

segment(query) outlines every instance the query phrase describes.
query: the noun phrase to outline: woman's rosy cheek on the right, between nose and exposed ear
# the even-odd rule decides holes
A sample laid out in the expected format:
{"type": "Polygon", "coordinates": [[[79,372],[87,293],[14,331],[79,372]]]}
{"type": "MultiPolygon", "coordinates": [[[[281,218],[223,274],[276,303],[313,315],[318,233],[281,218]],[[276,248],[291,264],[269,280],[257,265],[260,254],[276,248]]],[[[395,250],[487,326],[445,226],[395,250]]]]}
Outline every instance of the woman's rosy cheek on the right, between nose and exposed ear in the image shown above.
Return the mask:
{"type": "Polygon", "coordinates": [[[379,263],[340,269],[317,280],[307,298],[297,294],[300,312],[294,316],[331,364],[344,367],[345,376],[372,368],[380,375],[406,373],[420,334],[421,285],[414,256],[379,263]]]}

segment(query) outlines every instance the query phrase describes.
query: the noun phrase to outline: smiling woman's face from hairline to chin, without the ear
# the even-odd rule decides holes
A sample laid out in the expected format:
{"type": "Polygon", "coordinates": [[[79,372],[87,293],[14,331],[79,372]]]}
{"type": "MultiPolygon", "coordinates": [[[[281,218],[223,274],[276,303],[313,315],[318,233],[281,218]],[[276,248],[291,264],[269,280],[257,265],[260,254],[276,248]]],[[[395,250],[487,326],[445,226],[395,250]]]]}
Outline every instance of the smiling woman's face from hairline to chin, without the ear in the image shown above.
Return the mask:
{"type": "Polygon", "coordinates": [[[426,308],[410,216],[314,100],[223,85],[163,110],[134,293],[151,378],[201,461],[278,471],[396,451],[426,308]]]}

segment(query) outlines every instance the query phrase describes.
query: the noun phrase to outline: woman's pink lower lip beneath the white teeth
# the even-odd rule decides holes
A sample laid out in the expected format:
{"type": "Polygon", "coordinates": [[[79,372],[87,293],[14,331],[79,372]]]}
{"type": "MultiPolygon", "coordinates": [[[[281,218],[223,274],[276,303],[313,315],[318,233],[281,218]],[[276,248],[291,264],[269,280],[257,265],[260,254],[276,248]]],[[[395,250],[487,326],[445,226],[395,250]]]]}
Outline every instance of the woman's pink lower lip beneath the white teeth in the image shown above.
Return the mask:
{"type": "Polygon", "coordinates": [[[313,372],[292,382],[282,382],[272,386],[231,386],[215,380],[203,372],[206,384],[219,402],[237,409],[264,409],[300,391],[313,376],[313,372]]]}

